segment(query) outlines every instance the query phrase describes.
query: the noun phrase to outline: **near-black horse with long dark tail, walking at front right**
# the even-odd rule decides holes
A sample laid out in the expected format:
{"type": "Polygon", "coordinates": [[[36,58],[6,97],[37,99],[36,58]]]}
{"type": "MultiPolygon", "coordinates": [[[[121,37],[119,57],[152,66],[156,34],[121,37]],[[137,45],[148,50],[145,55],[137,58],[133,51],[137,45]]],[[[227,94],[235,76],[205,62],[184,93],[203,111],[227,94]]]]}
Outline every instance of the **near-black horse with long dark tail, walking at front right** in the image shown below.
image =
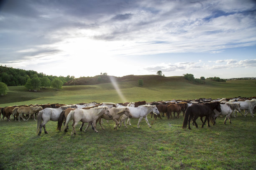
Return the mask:
{"type": "MultiPolygon", "coordinates": [[[[218,112],[221,112],[220,108],[220,102],[209,102],[209,103],[203,103],[203,104],[193,104],[190,107],[187,107],[185,117],[183,120],[183,125],[182,128],[187,128],[187,123],[188,123],[188,128],[190,128],[190,120],[193,119],[193,122],[195,123],[196,128],[198,128],[197,125],[197,118],[198,117],[203,117],[206,116],[207,118],[207,125],[210,127],[210,119],[212,122],[214,122],[214,112],[213,110],[216,109],[218,112]]],[[[206,121],[205,118],[205,121],[206,121]]],[[[202,128],[204,127],[205,122],[202,124],[202,128]]]]}

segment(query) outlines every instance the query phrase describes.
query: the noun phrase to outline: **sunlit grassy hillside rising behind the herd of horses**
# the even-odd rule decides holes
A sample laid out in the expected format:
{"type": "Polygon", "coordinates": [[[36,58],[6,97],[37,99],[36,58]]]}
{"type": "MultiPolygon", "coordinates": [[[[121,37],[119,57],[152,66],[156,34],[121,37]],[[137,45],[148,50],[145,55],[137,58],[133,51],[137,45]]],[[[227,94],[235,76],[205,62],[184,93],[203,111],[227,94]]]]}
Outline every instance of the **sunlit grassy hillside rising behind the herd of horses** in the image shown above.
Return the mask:
{"type": "Polygon", "coordinates": [[[0,107],[23,104],[80,103],[80,102],[131,102],[172,99],[251,97],[256,95],[256,80],[230,80],[213,82],[205,80],[204,85],[193,84],[184,77],[163,77],[156,75],[124,76],[118,80],[123,93],[121,99],[112,83],[99,85],[63,86],[63,89],[28,92],[25,87],[9,87],[8,95],[0,97],[0,107]],[[138,86],[143,79],[143,87],[138,86]]]}

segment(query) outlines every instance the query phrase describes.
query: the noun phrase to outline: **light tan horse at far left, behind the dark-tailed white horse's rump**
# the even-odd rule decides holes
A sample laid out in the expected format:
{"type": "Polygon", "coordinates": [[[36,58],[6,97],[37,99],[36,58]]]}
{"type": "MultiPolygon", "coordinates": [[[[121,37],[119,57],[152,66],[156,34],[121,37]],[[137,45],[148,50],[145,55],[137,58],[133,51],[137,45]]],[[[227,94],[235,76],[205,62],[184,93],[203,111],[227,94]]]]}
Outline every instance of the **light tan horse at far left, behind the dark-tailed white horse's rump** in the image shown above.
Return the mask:
{"type": "Polygon", "coordinates": [[[34,120],[36,121],[35,118],[35,113],[39,112],[40,110],[43,110],[43,107],[41,106],[29,106],[29,107],[15,107],[13,109],[13,115],[18,115],[18,121],[20,122],[20,117],[25,121],[25,119],[23,118],[23,115],[28,115],[28,119],[26,121],[29,120],[29,118],[31,117],[31,115],[33,115],[34,120]]]}

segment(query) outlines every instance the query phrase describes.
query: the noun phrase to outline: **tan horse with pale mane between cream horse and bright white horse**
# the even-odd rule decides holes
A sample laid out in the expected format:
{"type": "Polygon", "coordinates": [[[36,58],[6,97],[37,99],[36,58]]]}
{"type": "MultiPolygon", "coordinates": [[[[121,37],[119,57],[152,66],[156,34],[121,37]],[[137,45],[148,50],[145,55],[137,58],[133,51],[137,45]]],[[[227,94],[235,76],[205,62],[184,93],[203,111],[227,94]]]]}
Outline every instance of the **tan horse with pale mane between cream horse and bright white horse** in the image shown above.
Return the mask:
{"type": "Polygon", "coordinates": [[[115,108],[115,107],[112,107],[109,109],[110,111],[110,114],[112,115],[112,117],[108,117],[106,115],[102,115],[101,117],[99,117],[97,120],[96,120],[96,124],[97,122],[99,121],[99,124],[101,126],[102,129],[104,129],[101,125],[101,119],[106,119],[106,120],[113,120],[115,122],[115,127],[114,129],[117,130],[117,127],[118,125],[120,125],[119,123],[119,120],[120,120],[120,117],[125,114],[127,117],[131,118],[132,115],[129,111],[129,108],[128,107],[120,107],[120,108],[115,108]]]}

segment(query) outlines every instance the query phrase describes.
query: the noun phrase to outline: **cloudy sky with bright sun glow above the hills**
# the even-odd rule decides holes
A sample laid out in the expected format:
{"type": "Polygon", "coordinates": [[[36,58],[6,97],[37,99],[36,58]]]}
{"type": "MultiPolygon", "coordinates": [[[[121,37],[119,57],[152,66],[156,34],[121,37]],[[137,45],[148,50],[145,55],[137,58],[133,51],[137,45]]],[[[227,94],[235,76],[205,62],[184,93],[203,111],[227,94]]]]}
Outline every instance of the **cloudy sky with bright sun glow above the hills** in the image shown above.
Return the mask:
{"type": "Polygon", "coordinates": [[[256,1],[2,0],[0,65],[65,77],[256,77],[256,1]]]}

